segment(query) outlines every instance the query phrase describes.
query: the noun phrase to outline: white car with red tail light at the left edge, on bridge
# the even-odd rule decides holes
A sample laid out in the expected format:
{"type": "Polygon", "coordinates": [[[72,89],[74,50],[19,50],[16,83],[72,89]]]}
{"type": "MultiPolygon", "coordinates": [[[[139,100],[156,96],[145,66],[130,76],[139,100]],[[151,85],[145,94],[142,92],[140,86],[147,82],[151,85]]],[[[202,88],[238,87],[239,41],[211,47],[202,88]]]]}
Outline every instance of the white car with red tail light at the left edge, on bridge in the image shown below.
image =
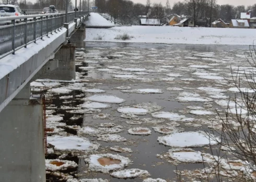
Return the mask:
{"type": "Polygon", "coordinates": [[[0,17],[21,16],[21,9],[17,5],[0,5],[0,17]]]}

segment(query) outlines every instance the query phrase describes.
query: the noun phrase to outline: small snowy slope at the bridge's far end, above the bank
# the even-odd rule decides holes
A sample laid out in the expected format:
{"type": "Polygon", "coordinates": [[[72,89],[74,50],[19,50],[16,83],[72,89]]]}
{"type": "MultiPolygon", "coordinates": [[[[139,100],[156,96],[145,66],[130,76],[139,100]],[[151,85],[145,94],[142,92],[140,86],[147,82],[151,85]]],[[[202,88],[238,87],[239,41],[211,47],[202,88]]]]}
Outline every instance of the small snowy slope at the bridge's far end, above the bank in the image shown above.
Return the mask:
{"type": "Polygon", "coordinates": [[[111,22],[109,22],[107,19],[103,18],[101,15],[90,12],[90,16],[88,18],[88,21],[86,21],[86,25],[89,26],[114,26],[111,22]]]}

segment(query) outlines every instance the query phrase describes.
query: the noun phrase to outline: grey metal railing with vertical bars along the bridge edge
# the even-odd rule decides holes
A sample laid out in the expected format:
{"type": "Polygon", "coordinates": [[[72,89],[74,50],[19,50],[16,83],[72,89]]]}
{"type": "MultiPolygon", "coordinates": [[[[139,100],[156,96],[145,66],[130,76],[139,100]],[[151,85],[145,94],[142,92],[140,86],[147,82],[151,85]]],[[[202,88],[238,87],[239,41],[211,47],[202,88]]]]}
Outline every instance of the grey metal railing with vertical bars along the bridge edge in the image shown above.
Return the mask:
{"type": "MultiPolygon", "coordinates": [[[[85,15],[85,12],[82,13],[85,15]]],[[[15,54],[16,50],[62,29],[65,15],[59,13],[0,17],[0,22],[6,24],[0,27],[0,59],[15,54]]],[[[67,22],[73,22],[74,18],[75,12],[69,12],[67,22]]]]}

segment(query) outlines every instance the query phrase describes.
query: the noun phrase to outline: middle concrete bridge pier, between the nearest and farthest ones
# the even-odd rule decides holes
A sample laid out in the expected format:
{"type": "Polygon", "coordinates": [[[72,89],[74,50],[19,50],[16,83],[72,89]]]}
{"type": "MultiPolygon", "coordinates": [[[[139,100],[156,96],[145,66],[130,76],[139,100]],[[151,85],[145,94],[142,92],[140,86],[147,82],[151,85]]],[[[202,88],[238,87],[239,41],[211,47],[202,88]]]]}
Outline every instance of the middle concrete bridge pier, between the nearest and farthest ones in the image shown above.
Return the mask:
{"type": "MultiPolygon", "coordinates": [[[[75,44],[63,45],[43,68],[38,72],[34,79],[52,79],[52,80],[75,80],[75,44]]],[[[33,79],[33,80],[34,80],[33,79]]]]}

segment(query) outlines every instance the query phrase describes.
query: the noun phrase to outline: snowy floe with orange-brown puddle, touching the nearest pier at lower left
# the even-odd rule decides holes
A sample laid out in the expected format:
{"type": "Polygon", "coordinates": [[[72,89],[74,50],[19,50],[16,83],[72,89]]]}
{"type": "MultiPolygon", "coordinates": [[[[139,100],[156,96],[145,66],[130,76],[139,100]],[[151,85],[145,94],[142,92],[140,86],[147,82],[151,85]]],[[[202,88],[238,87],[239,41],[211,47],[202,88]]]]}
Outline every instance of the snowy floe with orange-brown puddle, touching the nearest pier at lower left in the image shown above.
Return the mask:
{"type": "Polygon", "coordinates": [[[71,168],[77,168],[74,161],[60,160],[60,159],[45,159],[45,168],[49,171],[62,171],[71,168]]]}

